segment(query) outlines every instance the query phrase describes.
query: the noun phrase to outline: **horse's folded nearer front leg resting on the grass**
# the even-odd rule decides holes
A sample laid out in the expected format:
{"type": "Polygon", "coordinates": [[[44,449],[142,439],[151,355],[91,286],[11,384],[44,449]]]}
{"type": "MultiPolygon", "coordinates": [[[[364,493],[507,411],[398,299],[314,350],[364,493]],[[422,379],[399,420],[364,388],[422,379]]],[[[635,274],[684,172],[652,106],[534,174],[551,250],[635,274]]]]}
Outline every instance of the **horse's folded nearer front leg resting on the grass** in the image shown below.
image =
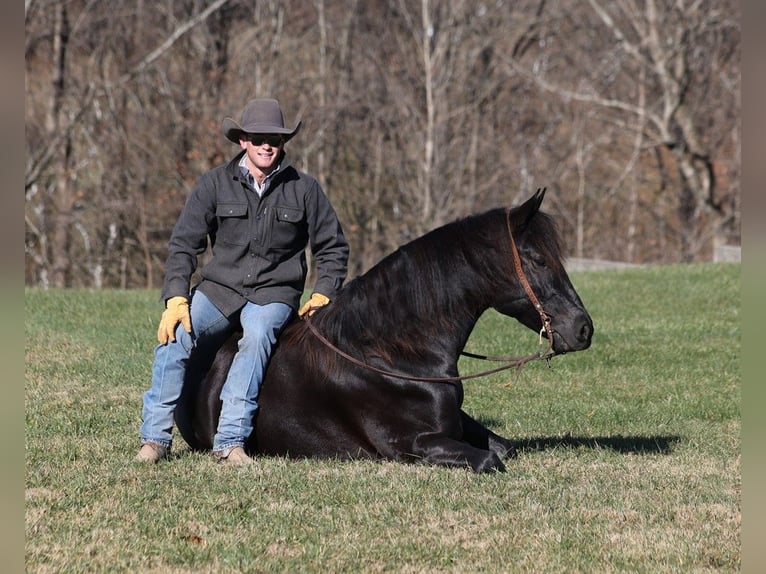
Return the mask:
{"type": "Polygon", "coordinates": [[[496,453],[442,434],[421,434],[413,447],[415,456],[422,462],[449,467],[469,466],[474,472],[505,471],[505,465],[496,453]]]}

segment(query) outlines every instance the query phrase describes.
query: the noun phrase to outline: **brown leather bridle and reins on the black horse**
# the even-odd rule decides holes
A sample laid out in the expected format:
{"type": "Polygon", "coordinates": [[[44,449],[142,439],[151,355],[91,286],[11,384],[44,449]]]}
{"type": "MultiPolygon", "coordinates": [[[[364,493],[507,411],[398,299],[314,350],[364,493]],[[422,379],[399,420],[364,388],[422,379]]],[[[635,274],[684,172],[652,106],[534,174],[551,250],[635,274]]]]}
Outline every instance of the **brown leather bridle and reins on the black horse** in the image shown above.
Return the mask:
{"type": "Polygon", "coordinates": [[[417,377],[414,375],[395,373],[393,371],[388,371],[386,369],[379,369],[378,367],[368,365],[367,363],[357,359],[356,357],[352,357],[348,353],[342,351],[341,349],[333,345],[324,335],[322,335],[317,330],[316,325],[314,325],[311,322],[310,314],[306,314],[304,316],[303,320],[306,323],[306,326],[314,334],[314,336],[317,339],[319,339],[325,346],[327,346],[329,349],[331,349],[332,351],[334,351],[336,354],[340,355],[347,361],[353,363],[357,367],[361,367],[368,371],[372,371],[372,372],[385,375],[387,377],[393,377],[396,379],[406,379],[409,381],[423,381],[423,382],[433,382],[433,383],[462,381],[467,379],[484,377],[487,375],[491,375],[493,373],[499,373],[500,371],[505,371],[507,369],[513,369],[513,368],[521,369],[527,363],[530,363],[532,361],[539,361],[543,359],[547,361],[548,366],[550,367],[551,358],[555,354],[553,350],[553,329],[551,327],[551,318],[548,316],[548,314],[543,309],[543,306],[540,304],[540,301],[535,295],[535,292],[532,290],[532,286],[529,284],[529,281],[527,280],[527,276],[524,274],[524,270],[521,266],[521,257],[519,256],[519,250],[516,248],[516,241],[513,239],[513,233],[511,232],[511,209],[510,208],[506,210],[505,221],[506,221],[506,226],[508,228],[508,237],[510,238],[510,243],[511,243],[513,270],[516,273],[516,276],[519,278],[519,281],[521,282],[522,287],[524,287],[524,292],[527,294],[527,297],[529,297],[529,300],[532,302],[532,305],[534,305],[535,310],[540,315],[540,320],[542,321],[542,324],[543,324],[542,329],[540,329],[540,344],[542,344],[543,333],[546,333],[548,337],[548,349],[546,351],[532,353],[531,355],[526,355],[523,357],[489,357],[486,355],[476,355],[474,353],[468,353],[466,351],[462,351],[461,355],[470,357],[472,359],[481,359],[484,361],[496,361],[496,362],[502,362],[505,364],[495,369],[489,369],[487,371],[473,373],[471,375],[460,375],[456,377],[417,377]]]}

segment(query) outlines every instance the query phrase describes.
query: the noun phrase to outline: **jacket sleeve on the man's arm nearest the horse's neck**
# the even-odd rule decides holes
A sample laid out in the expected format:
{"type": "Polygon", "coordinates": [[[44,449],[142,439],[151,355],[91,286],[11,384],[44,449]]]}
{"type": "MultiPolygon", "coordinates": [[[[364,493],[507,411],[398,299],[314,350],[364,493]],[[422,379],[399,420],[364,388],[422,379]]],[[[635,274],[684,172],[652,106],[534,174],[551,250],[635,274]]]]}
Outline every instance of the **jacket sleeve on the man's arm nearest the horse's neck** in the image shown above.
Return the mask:
{"type": "Polygon", "coordinates": [[[313,291],[334,299],[346,279],[349,248],[335,210],[316,180],[306,199],[306,218],[316,263],[313,291]]]}

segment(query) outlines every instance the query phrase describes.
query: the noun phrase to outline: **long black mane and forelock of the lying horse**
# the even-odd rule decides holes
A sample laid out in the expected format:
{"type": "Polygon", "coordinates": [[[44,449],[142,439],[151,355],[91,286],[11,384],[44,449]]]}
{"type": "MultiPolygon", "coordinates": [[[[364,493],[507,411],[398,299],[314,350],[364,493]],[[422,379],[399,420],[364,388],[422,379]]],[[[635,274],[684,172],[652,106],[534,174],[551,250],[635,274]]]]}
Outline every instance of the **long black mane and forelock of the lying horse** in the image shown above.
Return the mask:
{"type": "MultiPolygon", "coordinates": [[[[533,245],[548,265],[560,266],[553,220],[542,212],[525,222],[516,215],[511,210],[511,226],[524,228],[514,233],[519,249],[533,245]]],[[[311,320],[359,358],[416,361],[439,345],[428,333],[467,338],[497,290],[515,280],[507,217],[506,209],[495,208],[410,241],[348,282],[311,320]]],[[[306,336],[297,329],[293,335],[306,336]]]]}

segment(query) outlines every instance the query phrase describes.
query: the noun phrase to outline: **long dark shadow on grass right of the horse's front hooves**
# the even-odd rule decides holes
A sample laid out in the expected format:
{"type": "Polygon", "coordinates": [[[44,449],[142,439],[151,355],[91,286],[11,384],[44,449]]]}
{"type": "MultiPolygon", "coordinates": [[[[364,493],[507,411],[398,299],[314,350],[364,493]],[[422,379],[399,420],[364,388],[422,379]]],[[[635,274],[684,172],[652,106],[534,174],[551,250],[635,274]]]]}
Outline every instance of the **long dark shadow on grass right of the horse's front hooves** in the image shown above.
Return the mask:
{"type": "Polygon", "coordinates": [[[557,448],[609,449],[624,454],[670,454],[679,436],[600,436],[584,437],[563,435],[510,439],[519,453],[557,448]]]}

